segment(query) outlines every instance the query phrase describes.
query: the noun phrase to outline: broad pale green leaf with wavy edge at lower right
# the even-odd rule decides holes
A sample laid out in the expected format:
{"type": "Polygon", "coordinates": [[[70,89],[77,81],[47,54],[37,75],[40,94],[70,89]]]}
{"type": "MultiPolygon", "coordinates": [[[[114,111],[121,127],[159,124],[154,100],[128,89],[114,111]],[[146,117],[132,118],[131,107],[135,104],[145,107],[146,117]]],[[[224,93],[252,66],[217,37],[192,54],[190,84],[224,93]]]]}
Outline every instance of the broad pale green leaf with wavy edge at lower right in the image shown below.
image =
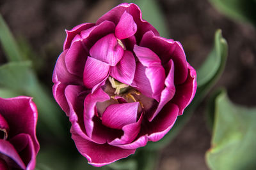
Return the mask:
{"type": "Polygon", "coordinates": [[[211,169],[256,169],[256,108],[229,101],[222,91],[216,96],[211,148],[206,153],[211,169]]]}

